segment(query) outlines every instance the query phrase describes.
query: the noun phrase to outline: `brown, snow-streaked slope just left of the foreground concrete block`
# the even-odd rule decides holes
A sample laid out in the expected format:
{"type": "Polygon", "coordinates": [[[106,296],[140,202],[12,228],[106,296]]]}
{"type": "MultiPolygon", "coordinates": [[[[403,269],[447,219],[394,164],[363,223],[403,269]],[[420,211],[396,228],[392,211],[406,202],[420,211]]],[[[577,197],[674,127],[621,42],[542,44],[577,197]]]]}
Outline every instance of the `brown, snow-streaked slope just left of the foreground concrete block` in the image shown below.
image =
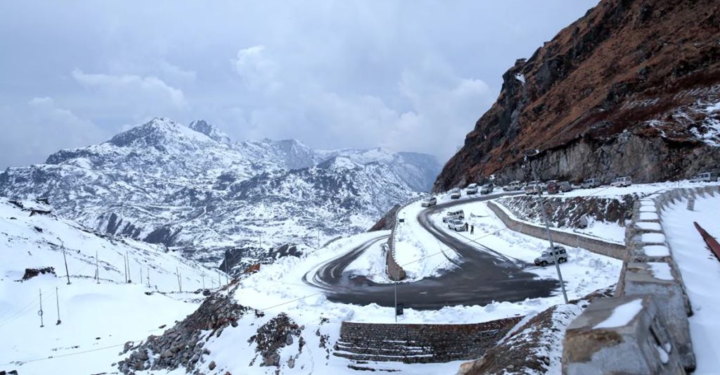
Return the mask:
{"type": "Polygon", "coordinates": [[[559,374],[565,327],[593,299],[612,295],[612,289],[599,290],[522,320],[480,359],[463,363],[458,374],[559,374]]]}

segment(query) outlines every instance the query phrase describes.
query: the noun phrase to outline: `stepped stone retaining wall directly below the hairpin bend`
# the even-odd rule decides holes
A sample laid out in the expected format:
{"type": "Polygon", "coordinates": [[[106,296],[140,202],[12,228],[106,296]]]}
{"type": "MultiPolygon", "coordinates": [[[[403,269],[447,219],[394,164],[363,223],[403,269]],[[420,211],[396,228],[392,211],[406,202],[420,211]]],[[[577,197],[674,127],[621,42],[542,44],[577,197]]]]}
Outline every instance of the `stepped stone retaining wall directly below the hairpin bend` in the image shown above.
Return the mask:
{"type": "Polygon", "coordinates": [[[480,358],[522,317],[477,324],[343,322],[333,355],[356,361],[449,362],[480,358]]]}

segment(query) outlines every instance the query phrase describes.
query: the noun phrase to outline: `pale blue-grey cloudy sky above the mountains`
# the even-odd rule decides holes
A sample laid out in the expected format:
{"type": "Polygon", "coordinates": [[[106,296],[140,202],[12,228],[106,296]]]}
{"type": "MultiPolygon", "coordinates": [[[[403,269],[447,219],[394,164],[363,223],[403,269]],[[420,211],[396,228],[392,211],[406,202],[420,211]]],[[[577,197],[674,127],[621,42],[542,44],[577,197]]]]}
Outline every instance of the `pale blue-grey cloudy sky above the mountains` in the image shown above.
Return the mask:
{"type": "Polygon", "coordinates": [[[0,168],[153,117],[445,161],[516,58],[595,4],[2,1],[0,168]]]}

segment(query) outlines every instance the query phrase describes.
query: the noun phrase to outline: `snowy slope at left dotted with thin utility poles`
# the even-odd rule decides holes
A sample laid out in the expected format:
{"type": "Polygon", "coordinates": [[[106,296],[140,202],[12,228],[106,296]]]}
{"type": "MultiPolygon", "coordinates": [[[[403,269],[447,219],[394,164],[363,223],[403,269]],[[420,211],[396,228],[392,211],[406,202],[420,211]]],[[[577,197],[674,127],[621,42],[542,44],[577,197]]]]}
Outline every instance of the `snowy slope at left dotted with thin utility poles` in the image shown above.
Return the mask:
{"type": "MultiPolygon", "coordinates": [[[[48,209],[36,202],[26,207],[48,209]]],[[[217,274],[163,248],[99,237],[68,220],[33,215],[0,199],[0,370],[19,374],[96,374],[128,340],[161,333],[194,311],[217,274]],[[71,284],[67,284],[63,246],[71,284]],[[98,253],[100,279],[96,272],[98,253]],[[125,256],[131,283],[125,282],[125,256]],[[54,267],[21,281],[25,268],[54,267]],[[143,278],[140,281],[140,270],[143,278]],[[148,286],[148,269],[149,284],[148,286]],[[176,270],[181,275],[179,292],[176,270]],[[211,279],[213,279],[211,281],[211,279]],[[40,327],[40,292],[44,327],[40,327]],[[60,325],[58,320],[60,310],[60,325]],[[52,358],[48,358],[52,357],[52,358]]],[[[222,279],[224,283],[224,279],[222,279]]]]}

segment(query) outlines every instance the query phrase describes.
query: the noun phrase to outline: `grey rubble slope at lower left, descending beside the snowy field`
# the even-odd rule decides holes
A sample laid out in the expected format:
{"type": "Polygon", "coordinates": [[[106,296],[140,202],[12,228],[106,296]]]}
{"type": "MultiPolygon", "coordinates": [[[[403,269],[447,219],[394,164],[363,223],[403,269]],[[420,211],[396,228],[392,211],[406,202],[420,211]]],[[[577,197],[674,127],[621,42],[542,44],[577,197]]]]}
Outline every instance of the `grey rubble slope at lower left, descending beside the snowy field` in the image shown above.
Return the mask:
{"type": "MultiPolygon", "coordinates": [[[[228,326],[237,327],[237,320],[248,310],[228,298],[226,292],[212,294],[195,312],[162,335],[151,335],[140,343],[125,343],[121,354],[130,352],[130,356],[118,362],[117,369],[123,374],[134,374],[135,371],[183,367],[188,373],[204,374],[203,356],[210,354],[203,348],[204,343],[212,336],[220,337],[228,326]]],[[[214,362],[208,366],[212,370],[214,362]]]]}

